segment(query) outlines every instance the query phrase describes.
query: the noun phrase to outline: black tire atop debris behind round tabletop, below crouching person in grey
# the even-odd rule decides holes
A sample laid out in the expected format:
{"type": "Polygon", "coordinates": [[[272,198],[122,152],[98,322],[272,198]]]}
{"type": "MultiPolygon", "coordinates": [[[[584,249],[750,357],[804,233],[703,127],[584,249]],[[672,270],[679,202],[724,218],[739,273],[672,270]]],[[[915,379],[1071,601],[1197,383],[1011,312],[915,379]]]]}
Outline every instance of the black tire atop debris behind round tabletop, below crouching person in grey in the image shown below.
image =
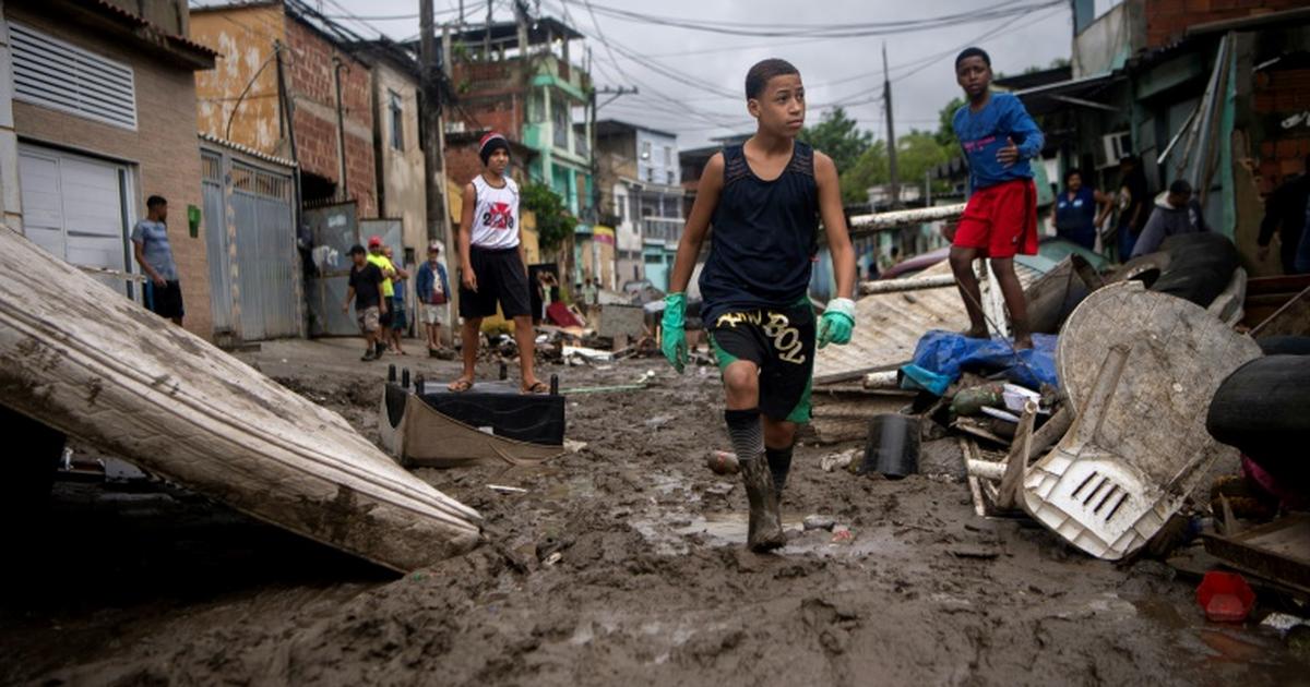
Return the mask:
{"type": "Polygon", "coordinates": [[[1238,267],[1233,242],[1210,232],[1169,237],[1161,250],[1169,254],[1169,267],[1150,289],[1201,308],[1208,308],[1227,288],[1238,267]]]}

